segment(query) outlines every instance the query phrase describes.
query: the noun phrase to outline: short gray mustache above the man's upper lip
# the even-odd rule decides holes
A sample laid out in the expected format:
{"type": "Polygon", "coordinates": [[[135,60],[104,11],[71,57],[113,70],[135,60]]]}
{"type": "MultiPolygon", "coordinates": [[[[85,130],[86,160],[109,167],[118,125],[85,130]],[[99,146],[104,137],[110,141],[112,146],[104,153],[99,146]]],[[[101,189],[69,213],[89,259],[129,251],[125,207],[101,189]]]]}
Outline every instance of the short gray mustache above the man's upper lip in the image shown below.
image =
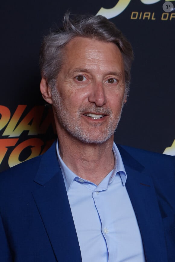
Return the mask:
{"type": "Polygon", "coordinates": [[[112,114],[112,110],[108,107],[98,107],[95,104],[94,105],[89,105],[89,106],[81,106],[78,109],[78,113],[83,114],[87,112],[94,112],[98,114],[103,114],[103,115],[110,115],[112,114]]]}

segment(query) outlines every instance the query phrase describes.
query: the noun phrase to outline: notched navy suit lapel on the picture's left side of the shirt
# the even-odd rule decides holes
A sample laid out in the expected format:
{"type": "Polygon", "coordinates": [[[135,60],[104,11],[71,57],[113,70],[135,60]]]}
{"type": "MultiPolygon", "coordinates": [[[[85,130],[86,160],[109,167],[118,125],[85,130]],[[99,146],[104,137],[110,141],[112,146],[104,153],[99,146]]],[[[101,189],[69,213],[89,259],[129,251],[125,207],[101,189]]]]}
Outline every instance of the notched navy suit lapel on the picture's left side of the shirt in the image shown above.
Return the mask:
{"type": "Polygon", "coordinates": [[[39,189],[32,192],[57,261],[81,261],[81,252],[58,164],[56,145],[42,156],[35,182],[39,189]]]}

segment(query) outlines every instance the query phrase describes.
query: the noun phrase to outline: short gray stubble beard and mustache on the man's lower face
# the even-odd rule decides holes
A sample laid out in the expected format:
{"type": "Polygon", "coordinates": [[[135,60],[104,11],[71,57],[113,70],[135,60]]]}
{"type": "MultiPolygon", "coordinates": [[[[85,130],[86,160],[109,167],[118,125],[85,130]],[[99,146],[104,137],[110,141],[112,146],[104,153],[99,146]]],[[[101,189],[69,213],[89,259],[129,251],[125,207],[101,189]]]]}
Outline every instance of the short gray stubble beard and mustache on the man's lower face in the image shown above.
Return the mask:
{"type": "MultiPolygon", "coordinates": [[[[81,106],[77,112],[77,118],[75,116],[70,117],[70,114],[67,110],[65,110],[63,99],[59,95],[59,92],[57,88],[52,89],[52,100],[53,100],[53,106],[56,111],[57,119],[59,124],[73,137],[79,139],[81,142],[84,143],[104,143],[108,139],[110,139],[111,136],[113,136],[117,125],[119,123],[119,120],[121,118],[122,114],[122,108],[124,104],[124,99],[122,103],[121,110],[116,116],[116,118],[111,118],[112,110],[110,108],[103,108],[103,107],[97,107],[95,104],[91,104],[91,106],[81,106]],[[84,112],[96,112],[99,114],[105,114],[110,117],[109,125],[106,126],[103,130],[103,132],[99,133],[98,138],[92,138],[92,134],[84,131],[80,125],[77,125],[77,119],[80,119],[81,115],[84,112]]],[[[98,126],[103,125],[103,123],[93,123],[91,124],[92,127],[97,128],[98,126]]]]}

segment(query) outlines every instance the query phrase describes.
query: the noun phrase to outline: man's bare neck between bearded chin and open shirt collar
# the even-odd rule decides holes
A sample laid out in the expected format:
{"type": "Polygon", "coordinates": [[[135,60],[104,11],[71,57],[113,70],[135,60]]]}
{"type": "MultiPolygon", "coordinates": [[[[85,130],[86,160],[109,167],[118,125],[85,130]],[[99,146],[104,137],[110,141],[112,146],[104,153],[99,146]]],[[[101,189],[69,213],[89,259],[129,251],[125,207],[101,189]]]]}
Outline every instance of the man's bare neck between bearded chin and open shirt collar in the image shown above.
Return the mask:
{"type": "Polygon", "coordinates": [[[59,154],[76,175],[98,185],[114,168],[113,137],[104,143],[95,144],[59,134],[59,154]]]}

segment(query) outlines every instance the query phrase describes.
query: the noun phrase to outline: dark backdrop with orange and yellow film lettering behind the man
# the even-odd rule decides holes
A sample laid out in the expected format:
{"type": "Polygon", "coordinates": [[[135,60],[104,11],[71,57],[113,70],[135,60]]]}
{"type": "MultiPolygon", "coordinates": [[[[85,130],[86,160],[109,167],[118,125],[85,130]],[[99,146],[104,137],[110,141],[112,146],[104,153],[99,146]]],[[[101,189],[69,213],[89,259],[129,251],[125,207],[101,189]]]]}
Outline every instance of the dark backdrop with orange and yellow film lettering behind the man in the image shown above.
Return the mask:
{"type": "Polygon", "coordinates": [[[131,90],[115,142],[175,154],[175,10],[164,12],[165,2],[9,0],[1,4],[0,171],[43,153],[56,136],[52,111],[40,95],[38,58],[43,35],[61,23],[67,9],[107,16],[132,43],[131,90]]]}

